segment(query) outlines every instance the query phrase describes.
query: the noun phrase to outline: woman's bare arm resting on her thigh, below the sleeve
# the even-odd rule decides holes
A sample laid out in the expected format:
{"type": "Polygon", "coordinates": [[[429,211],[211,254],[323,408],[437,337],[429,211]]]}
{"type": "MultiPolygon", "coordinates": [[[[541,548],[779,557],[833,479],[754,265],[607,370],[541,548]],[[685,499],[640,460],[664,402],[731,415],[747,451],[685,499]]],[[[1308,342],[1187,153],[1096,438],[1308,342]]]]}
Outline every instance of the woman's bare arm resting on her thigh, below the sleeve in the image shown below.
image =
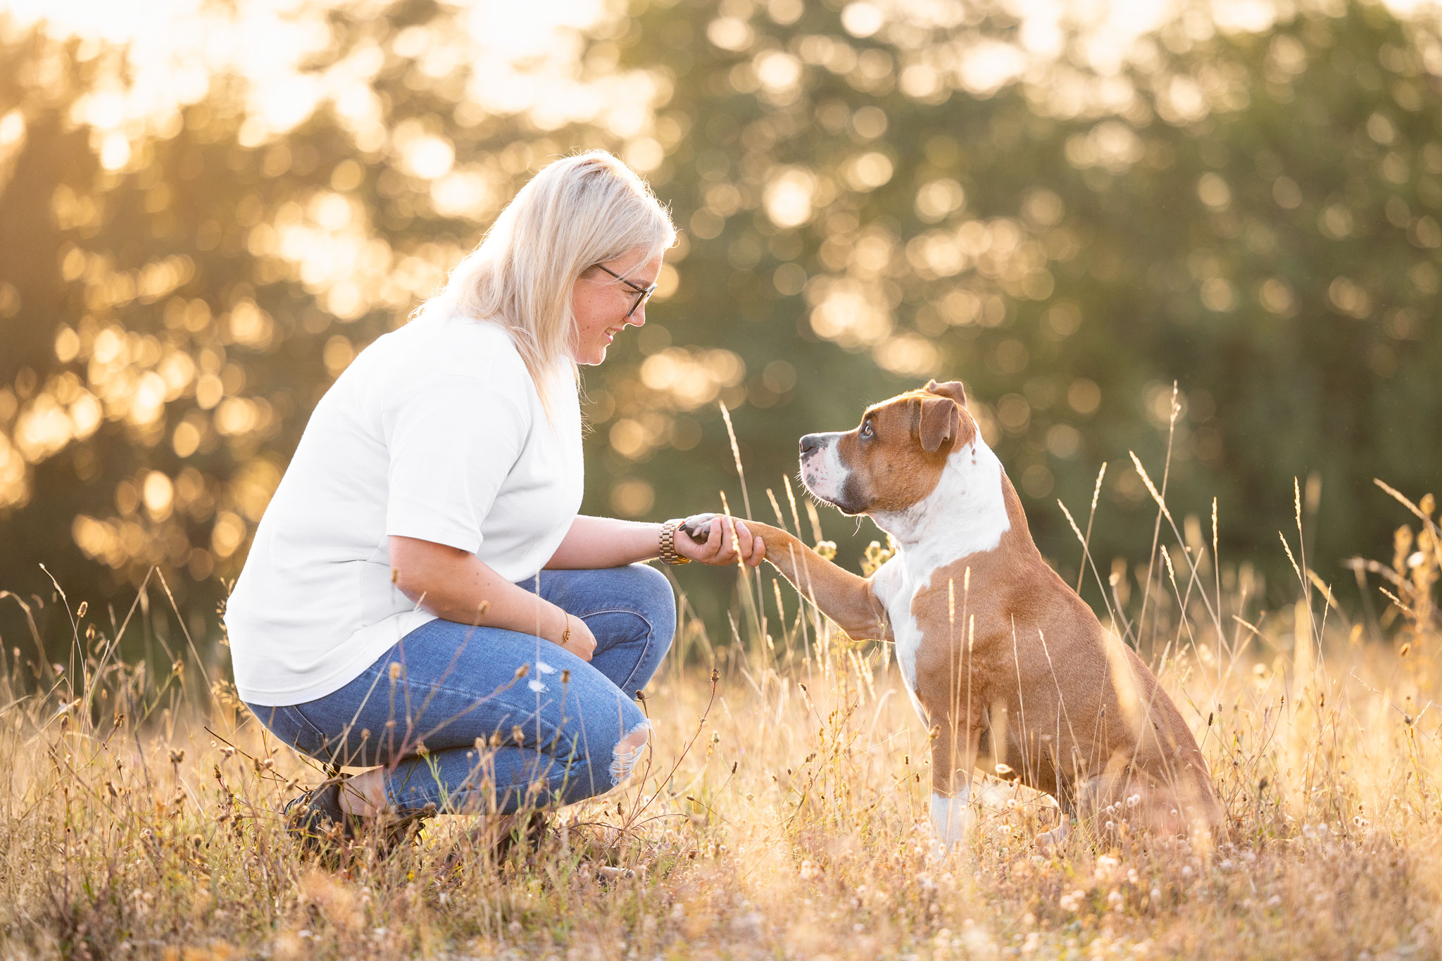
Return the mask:
{"type": "Polygon", "coordinates": [[[591,660],[596,637],[578,617],[518,588],[476,555],[418,537],[391,535],[391,578],[401,594],[435,617],[544,637],[591,660]],[[565,638],[571,631],[570,640],[565,638]]]}

